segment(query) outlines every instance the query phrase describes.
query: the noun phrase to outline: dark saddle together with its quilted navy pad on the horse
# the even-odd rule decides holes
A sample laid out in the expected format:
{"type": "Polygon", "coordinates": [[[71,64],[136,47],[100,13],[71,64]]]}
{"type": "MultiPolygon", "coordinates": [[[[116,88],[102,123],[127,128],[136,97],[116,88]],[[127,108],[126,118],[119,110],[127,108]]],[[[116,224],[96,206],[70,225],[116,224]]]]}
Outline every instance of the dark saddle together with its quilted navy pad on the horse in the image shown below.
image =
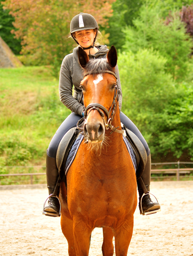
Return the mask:
{"type": "MultiPolygon", "coordinates": [[[[136,171],[136,179],[139,179],[147,163],[146,149],[132,131],[128,130],[126,127],[124,127],[124,129],[126,131],[126,138],[123,138],[133,161],[136,171]]],[[[71,163],[73,163],[79,145],[81,145],[83,139],[84,136],[80,133],[80,131],[76,127],[73,127],[63,136],[62,140],[60,141],[56,161],[60,179],[65,183],[68,169],[71,163]]]]}

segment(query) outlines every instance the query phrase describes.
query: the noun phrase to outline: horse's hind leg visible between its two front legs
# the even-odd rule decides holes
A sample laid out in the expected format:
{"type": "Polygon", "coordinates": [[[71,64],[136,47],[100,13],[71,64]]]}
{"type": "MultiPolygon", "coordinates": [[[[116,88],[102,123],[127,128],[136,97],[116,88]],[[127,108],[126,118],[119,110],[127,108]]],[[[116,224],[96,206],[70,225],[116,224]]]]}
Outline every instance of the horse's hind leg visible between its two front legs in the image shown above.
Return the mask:
{"type": "Polygon", "coordinates": [[[112,238],[114,237],[114,234],[112,233],[111,228],[102,228],[102,229],[103,229],[102,255],[112,256],[114,254],[114,246],[112,244],[112,238]]]}

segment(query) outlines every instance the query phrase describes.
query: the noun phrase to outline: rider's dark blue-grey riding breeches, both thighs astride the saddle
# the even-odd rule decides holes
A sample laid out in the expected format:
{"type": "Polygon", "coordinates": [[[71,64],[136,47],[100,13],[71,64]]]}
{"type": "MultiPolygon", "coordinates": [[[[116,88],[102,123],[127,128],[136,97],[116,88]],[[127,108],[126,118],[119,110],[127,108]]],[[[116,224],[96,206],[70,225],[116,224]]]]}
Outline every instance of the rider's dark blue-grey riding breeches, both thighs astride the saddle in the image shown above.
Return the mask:
{"type": "MultiPolygon", "coordinates": [[[[47,150],[47,155],[49,155],[50,157],[54,157],[54,158],[56,157],[57,149],[58,149],[61,139],[63,138],[63,135],[65,135],[67,133],[67,131],[70,130],[71,128],[76,127],[77,122],[81,118],[82,118],[82,116],[79,116],[75,113],[71,113],[65,119],[65,121],[63,121],[63,123],[60,125],[59,129],[54,134],[54,136],[50,142],[49,148],[47,150]]],[[[149,153],[150,153],[149,147],[147,145],[146,140],[143,138],[141,132],[134,125],[134,123],[122,112],[120,112],[120,122],[122,122],[129,130],[131,130],[139,138],[139,140],[142,142],[144,148],[146,149],[147,155],[149,155],[149,153]]]]}

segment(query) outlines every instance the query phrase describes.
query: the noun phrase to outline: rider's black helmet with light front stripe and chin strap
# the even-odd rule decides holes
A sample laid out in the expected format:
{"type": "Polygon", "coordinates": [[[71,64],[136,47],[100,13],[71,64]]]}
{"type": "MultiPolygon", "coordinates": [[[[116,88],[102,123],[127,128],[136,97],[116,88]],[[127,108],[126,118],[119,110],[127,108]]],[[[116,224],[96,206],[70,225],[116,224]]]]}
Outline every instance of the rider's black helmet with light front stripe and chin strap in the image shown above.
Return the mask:
{"type": "MultiPolygon", "coordinates": [[[[99,30],[99,26],[97,24],[97,21],[94,19],[94,17],[91,14],[81,12],[80,14],[76,15],[70,22],[70,33],[77,44],[78,42],[76,38],[73,36],[73,33],[76,31],[86,30],[86,29],[99,30]]],[[[97,34],[94,38],[93,45],[86,48],[83,47],[83,49],[87,50],[87,49],[90,49],[91,47],[94,47],[96,38],[97,38],[97,34]]]]}

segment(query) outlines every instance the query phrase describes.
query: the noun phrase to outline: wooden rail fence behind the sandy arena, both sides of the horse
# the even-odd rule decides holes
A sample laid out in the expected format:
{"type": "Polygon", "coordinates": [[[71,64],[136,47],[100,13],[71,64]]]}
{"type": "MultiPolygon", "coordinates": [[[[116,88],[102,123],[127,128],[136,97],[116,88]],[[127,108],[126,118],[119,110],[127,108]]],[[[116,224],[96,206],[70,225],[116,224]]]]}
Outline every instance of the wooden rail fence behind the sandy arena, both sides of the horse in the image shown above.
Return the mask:
{"type": "MultiPolygon", "coordinates": [[[[175,169],[151,169],[151,174],[176,174],[176,180],[180,180],[180,174],[190,174],[193,171],[193,168],[180,168],[180,164],[192,164],[193,162],[165,162],[165,163],[151,163],[151,165],[170,165],[177,164],[178,167],[175,169]]],[[[36,166],[0,166],[0,169],[3,168],[45,168],[42,165],[36,166]]],[[[45,172],[39,173],[10,173],[10,174],[0,174],[0,177],[11,177],[11,176],[30,176],[30,183],[33,184],[34,175],[46,175],[45,172]]],[[[172,178],[173,176],[167,176],[167,178],[172,178]]],[[[156,179],[157,177],[151,177],[151,179],[156,179]]]]}

